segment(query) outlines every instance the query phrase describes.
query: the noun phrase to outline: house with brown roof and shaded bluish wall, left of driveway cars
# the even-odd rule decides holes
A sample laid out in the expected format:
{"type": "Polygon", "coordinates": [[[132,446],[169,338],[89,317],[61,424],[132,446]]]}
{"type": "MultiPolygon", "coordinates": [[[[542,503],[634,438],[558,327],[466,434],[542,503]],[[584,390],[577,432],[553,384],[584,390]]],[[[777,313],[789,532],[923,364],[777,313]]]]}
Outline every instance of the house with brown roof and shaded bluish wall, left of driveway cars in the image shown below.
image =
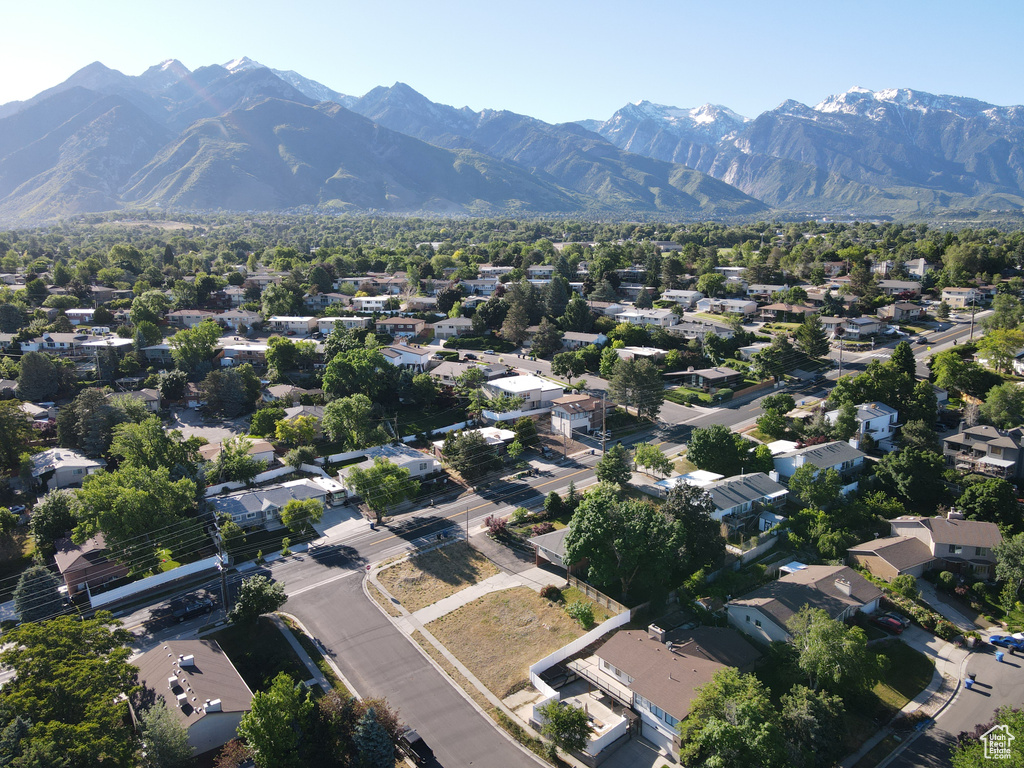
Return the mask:
{"type": "Polygon", "coordinates": [[[873,613],[882,590],[847,565],[804,565],[725,605],[729,624],[760,642],[790,642],[786,623],[805,605],[845,621],[873,613]]]}

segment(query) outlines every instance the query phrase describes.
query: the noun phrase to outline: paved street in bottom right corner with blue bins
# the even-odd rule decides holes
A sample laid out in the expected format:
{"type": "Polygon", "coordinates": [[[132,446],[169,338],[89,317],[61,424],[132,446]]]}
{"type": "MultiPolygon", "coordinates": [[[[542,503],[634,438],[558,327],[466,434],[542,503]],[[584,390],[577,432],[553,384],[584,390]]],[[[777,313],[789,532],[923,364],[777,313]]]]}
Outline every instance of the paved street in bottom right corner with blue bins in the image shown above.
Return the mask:
{"type": "Polygon", "coordinates": [[[973,731],[976,725],[991,722],[999,707],[1024,703],[1024,659],[1008,655],[1007,662],[999,664],[990,650],[978,651],[971,656],[967,670],[977,673],[974,689],[962,687],[936,718],[935,725],[918,736],[889,764],[890,768],[945,768],[962,731],[973,731]]]}

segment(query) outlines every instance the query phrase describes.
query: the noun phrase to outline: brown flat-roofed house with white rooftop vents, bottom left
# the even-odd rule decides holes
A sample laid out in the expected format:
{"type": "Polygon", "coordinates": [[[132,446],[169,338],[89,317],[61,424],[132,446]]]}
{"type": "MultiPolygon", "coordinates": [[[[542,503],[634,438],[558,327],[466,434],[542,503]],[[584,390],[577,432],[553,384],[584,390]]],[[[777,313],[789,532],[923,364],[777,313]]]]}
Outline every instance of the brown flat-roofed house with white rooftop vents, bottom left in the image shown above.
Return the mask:
{"type": "Polygon", "coordinates": [[[133,664],[139,684],[163,697],[196,755],[234,738],[252,709],[252,691],[216,640],[168,640],[133,664]]]}

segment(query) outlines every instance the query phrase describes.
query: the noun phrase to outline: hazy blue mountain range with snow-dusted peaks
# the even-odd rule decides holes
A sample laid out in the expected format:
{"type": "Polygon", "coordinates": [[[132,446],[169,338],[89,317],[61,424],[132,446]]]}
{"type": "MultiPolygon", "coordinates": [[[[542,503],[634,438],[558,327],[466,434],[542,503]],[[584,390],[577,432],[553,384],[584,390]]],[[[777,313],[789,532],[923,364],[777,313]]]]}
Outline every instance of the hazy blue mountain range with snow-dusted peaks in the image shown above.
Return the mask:
{"type": "Polygon", "coordinates": [[[94,62],[0,104],[0,220],[132,207],[685,219],[1024,208],[1024,108],[854,88],[754,119],[627,104],[552,125],[349,96],[249,58],[94,62]]]}

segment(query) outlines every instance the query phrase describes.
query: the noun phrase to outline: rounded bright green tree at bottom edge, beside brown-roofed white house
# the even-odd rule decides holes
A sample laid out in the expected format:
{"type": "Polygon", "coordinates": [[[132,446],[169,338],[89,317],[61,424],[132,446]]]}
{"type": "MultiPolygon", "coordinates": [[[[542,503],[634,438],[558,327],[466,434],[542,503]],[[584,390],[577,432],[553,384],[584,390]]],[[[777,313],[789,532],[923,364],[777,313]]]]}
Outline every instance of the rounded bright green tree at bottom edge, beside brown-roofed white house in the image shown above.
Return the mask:
{"type": "Polygon", "coordinates": [[[690,714],[679,723],[680,762],[730,768],[787,765],[778,715],[768,691],[754,675],[728,667],[697,689],[690,714]]]}

